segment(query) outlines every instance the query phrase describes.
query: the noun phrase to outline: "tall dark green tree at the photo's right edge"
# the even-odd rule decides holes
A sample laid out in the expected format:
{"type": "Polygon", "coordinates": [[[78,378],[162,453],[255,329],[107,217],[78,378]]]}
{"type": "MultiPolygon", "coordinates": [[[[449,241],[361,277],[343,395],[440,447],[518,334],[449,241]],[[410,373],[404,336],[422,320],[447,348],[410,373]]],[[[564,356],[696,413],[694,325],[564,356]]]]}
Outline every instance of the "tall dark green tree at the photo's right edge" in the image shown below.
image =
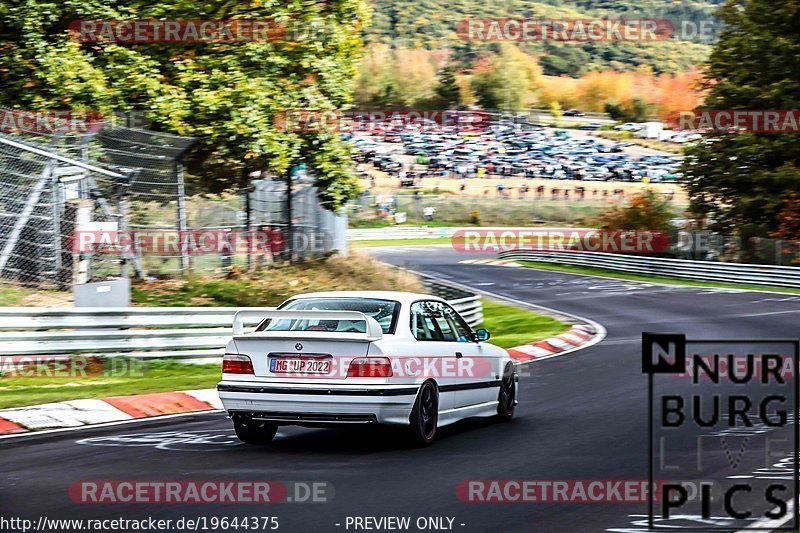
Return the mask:
{"type": "MultiPolygon", "coordinates": [[[[729,0],[706,71],[708,109],[800,109],[800,4],[729,0]]],[[[717,133],[686,151],[683,171],[696,217],[720,231],[778,230],[788,195],[800,190],[796,133],[717,133]]]]}

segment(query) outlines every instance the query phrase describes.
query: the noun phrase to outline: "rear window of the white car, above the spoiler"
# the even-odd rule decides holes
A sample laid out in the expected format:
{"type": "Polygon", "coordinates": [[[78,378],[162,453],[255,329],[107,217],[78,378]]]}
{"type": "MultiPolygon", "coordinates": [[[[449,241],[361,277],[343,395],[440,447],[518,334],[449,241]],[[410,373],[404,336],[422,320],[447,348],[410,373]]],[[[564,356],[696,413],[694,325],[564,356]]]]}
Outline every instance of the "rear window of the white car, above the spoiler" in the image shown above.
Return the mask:
{"type": "MultiPolygon", "coordinates": [[[[358,311],[374,318],[383,333],[394,333],[400,303],[377,298],[298,298],[279,307],[285,311],[358,311]]],[[[339,331],[365,332],[363,320],[271,319],[256,331],[339,331]]]]}

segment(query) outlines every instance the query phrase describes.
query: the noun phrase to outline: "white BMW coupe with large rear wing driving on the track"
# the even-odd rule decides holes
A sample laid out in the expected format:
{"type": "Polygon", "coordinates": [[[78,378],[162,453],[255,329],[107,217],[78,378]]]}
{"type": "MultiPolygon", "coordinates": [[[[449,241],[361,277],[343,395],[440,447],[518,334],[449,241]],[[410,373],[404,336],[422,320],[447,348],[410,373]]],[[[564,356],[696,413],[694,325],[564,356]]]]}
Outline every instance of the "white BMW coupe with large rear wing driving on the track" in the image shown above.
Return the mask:
{"type": "Polygon", "coordinates": [[[270,442],[281,425],[392,424],[427,445],[458,420],[514,415],[513,360],[442,298],[301,294],[236,313],[233,329],[217,390],[246,443],[270,442]],[[258,326],[244,333],[248,320],[258,326]]]}

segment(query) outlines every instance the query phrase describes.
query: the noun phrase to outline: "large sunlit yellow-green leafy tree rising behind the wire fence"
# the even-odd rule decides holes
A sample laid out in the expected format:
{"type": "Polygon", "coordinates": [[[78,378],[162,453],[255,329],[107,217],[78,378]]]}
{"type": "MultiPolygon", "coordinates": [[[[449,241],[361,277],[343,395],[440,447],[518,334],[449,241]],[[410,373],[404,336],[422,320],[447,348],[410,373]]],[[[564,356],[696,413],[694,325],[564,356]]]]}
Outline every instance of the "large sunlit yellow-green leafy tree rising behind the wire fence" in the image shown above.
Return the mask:
{"type": "Polygon", "coordinates": [[[208,190],[253,170],[284,173],[306,160],[335,209],[357,192],[337,135],[282,131],[276,114],[342,109],[352,98],[364,0],[13,0],[0,3],[0,105],[22,109],[143,111],[154,127],[199,138],[187,170],[208,190]],[[262,42],[77,42],[74,20],[280,21],[262,42]]]}

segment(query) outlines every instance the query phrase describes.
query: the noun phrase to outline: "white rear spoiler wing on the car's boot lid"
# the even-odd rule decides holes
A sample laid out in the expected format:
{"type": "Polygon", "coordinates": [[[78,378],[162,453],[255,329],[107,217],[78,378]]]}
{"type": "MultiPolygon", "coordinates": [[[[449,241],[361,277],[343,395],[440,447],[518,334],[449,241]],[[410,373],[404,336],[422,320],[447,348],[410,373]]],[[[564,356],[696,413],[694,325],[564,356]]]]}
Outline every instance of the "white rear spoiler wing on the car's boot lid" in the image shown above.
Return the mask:
{"type": "Polygon", "coordinates": [[[233,315],[233,334],[243,335],[245,322],[253,323],[264,319],[288,319],[288,320],[353,320],[366,322],[366,333],[336,332],[336,331],[275,331],[270,335],[269,331],[258,332],[258,335],[280,336],[280,337],[315,337],[336,339],[338,336],[348,338],[356,337],[362,341],[376,341],[383,338],[383,329],[378,321],[358,311],[237,311],[233,315]],[[254,320],[256,319],[256,320],[254,320]]]}

